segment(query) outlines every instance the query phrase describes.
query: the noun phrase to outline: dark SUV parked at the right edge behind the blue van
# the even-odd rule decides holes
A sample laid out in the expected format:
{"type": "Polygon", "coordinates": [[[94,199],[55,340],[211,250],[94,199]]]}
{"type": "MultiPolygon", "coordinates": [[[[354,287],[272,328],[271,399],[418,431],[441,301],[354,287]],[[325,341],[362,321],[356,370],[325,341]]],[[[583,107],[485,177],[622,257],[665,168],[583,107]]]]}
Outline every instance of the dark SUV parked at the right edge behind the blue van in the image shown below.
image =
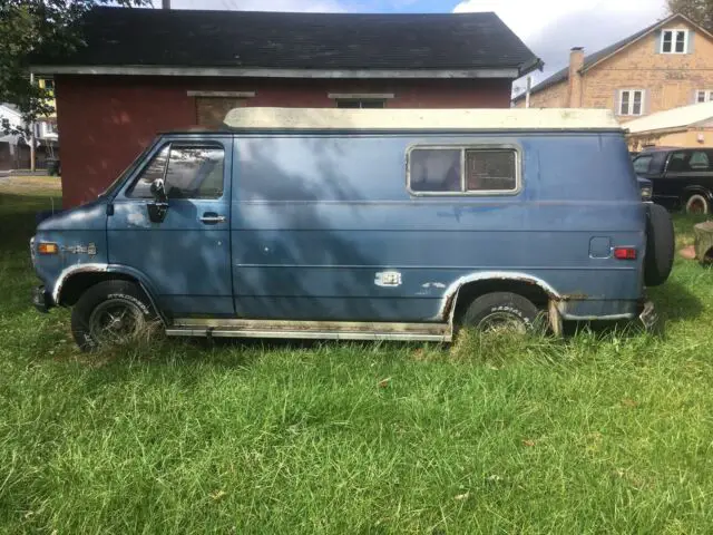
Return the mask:
{"type": "Polygon", "coordinates": [[[710,214],[713,210],[713,149],[651,148],[633,162],[653,185],[653,201],[668,210],[710,214]]]}

